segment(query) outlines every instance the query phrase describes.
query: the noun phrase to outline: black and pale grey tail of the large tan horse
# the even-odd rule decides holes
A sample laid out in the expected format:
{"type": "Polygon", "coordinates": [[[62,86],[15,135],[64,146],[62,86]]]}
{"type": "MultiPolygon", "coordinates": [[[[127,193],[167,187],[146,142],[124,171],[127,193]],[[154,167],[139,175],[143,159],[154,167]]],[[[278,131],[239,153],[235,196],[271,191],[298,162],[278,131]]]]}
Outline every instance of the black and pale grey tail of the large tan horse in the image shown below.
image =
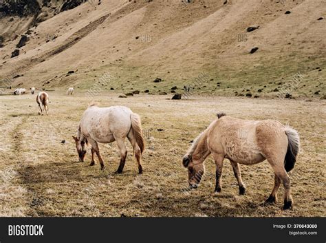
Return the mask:
{"type": "Polygon", "coordinates": [[[294,168],[296,162],[296,156],[300,149],[300,138],[298,136],[298,131],[294,130],[292,127],[285,127],[285,134],[287,136],[287,151],[285,155],[284,168],[285,171],[291,171],[294,168]]]}

